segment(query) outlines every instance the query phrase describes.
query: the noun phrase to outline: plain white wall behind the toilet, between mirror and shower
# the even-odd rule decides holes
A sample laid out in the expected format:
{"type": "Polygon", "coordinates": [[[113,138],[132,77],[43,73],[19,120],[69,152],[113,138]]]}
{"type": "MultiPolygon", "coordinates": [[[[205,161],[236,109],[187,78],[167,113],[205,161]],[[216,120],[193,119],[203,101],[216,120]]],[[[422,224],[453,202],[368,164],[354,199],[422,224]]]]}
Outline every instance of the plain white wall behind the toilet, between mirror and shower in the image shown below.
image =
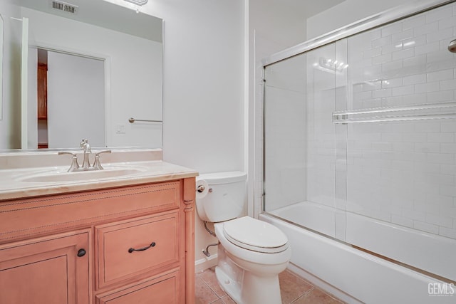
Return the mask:
{"type": "MultiPolygon", "coordinates": [[[[140,11],[165,20],[165,161],[200,173],[244,170],[244,1],[154,0],[140,11]]],[[[198,217],[195,241],[204,259],[215,240],[198,217]]]]}

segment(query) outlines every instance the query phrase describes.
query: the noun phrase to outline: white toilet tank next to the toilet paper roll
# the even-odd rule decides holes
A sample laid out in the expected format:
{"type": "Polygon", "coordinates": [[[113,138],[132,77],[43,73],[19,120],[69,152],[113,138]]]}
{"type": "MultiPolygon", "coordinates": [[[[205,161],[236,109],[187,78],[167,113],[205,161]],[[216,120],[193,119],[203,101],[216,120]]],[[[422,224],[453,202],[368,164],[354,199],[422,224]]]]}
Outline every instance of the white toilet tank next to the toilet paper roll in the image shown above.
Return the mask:
{"type": "Polygon", "coordinates": [[[242,214],[246,204],[246,180],[247,174],[239,171],[200,174],[197,188],[203,185],[204,191],[197,191],[199,218],[216,223],[242,214]]]}

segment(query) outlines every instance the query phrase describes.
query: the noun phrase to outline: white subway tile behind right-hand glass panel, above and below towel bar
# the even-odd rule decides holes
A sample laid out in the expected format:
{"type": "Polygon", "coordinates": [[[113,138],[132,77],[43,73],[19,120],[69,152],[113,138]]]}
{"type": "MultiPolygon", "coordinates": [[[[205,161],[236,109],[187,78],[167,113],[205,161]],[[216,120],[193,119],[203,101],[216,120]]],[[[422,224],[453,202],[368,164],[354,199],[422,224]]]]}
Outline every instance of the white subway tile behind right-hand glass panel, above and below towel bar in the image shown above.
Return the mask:
{"type": "MultiPolygon", "coordinates": [[[[348,38],[348,110],[454,103],[453,38],[456,4],[348,38]]],[[[422,118],[347,125],[347,210],[456,239],[456,119],[422,118]]]]}

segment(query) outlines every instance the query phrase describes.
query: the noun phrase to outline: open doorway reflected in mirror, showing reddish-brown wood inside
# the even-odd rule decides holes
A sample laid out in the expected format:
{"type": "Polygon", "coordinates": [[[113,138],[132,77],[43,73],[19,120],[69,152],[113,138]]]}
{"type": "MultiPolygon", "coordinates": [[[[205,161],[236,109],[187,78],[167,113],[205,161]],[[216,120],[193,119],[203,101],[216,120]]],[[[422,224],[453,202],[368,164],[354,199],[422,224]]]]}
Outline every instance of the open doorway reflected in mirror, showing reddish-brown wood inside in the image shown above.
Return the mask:
{"type": "Polygon", "coordinates": [[[36,103],[35,148],[77,147],[81,138],[104,147],[104,62],[40,48],[32,56],[36,98],[29,102],[36,103]]]}

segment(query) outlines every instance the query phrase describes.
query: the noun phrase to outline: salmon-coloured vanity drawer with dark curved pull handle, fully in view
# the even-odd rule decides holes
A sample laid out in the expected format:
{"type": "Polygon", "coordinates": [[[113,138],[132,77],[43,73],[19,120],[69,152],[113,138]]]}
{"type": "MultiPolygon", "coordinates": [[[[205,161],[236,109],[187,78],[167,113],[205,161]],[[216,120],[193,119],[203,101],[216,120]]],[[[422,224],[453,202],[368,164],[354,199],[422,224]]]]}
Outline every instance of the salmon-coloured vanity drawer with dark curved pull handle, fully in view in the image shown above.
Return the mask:
{"type": "Polygon", "coordinates": [[[95,226],[98,288],[179,262],[179,212],[95,226]]]}

